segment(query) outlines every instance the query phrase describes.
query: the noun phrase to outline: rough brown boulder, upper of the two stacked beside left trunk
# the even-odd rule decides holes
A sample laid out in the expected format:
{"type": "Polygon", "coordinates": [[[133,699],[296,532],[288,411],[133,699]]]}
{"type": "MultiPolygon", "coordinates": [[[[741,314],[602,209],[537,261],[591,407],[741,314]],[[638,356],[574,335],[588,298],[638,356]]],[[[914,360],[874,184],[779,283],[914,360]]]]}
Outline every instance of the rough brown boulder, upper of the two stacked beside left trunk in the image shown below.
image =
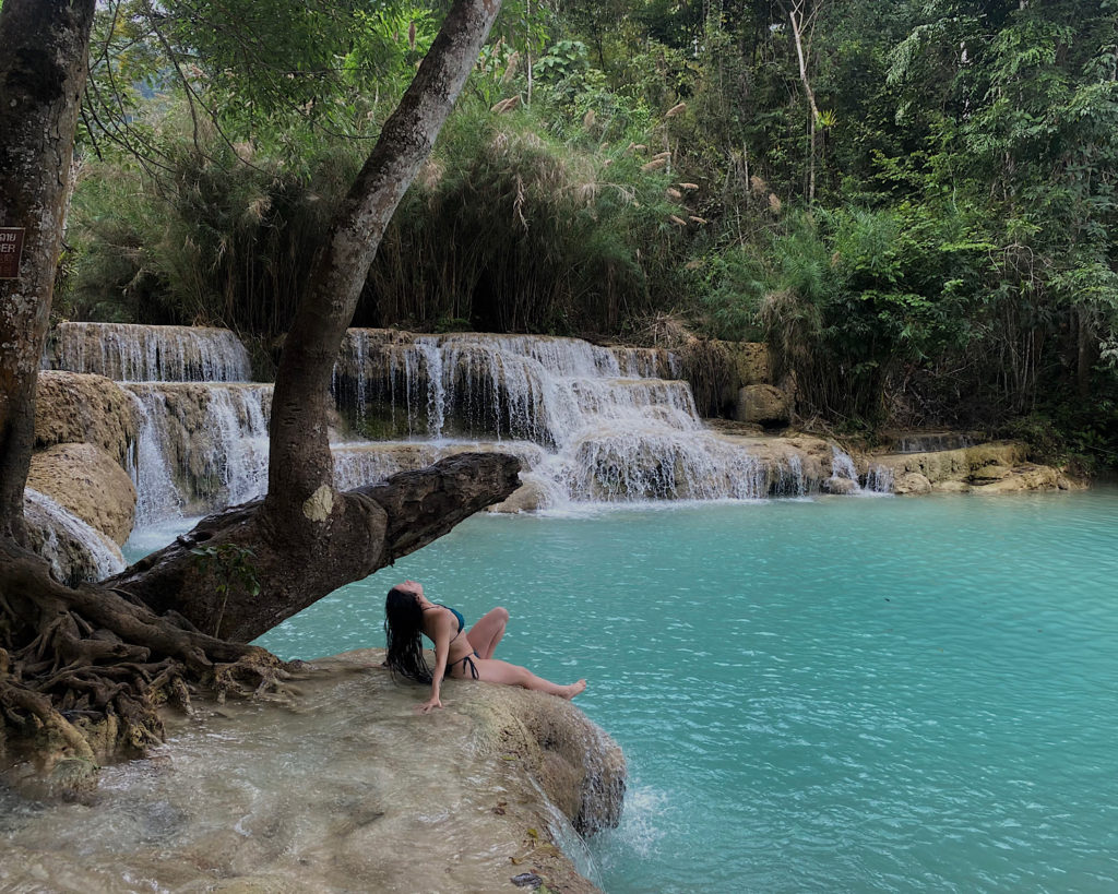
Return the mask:
{"type": "Polygon", "coordinates": [[[132,401],[103,375],[44,370],[35,397],[35,446],[95,444],[125,465],[136,439],[132,401]]]}

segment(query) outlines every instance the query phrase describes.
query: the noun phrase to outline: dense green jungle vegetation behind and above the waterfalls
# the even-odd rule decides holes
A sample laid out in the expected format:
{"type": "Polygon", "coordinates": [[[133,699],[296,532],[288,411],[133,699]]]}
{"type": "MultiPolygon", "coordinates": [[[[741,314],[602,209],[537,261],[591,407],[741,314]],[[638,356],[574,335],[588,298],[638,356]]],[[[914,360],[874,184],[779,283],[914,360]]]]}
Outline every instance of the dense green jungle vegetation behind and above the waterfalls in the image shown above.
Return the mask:
{"type": "MultiPolygon", "coordinates": [[[[61,312],[273,336],[439,7],[164,7],[106,9],[61,312]]],[[[502,16],[357,324],[762,337],[805,418],[1118,459],[1118,2],[502,16]]]]}

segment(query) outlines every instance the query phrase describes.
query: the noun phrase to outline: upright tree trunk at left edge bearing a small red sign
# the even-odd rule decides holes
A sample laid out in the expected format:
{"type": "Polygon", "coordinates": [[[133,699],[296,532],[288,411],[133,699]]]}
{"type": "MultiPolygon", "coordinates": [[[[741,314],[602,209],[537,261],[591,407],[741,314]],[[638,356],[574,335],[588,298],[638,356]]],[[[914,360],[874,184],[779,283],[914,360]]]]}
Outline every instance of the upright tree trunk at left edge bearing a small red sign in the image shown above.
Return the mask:
{"type": "Polygon", "coordinates": [[[0,8],[0,227],[25,230],[19,277],[0,279],[0,538],[19,544],[95,6],[4,0],[0,8]]]}

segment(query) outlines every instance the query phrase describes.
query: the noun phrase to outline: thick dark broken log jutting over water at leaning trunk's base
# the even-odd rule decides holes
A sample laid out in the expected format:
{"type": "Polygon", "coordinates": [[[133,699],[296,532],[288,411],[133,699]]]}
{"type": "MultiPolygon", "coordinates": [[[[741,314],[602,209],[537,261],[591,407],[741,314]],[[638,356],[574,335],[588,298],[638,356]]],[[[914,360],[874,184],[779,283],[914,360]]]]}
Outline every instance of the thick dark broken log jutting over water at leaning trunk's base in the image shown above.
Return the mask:
{"type": "MultiPolygon", "coordinates": [[[[440,538],[519,486],[520,463],[504,454],[462,454],[382,484],[338,494],[331,535],[303,541],[276,527],[260,501],[202,520],[106,587],[152,610],[174,611],[210,636],[247,643],[339,587],[367,578],[440,538]],[[214,544],[250,549],[259,595],[228,569],[207,569],[191,550],[214,544]],[[226,584],[219,592],[215,583],[226,584]]],[[[310,656],[314,657],[314,656],[310,656]]]]}

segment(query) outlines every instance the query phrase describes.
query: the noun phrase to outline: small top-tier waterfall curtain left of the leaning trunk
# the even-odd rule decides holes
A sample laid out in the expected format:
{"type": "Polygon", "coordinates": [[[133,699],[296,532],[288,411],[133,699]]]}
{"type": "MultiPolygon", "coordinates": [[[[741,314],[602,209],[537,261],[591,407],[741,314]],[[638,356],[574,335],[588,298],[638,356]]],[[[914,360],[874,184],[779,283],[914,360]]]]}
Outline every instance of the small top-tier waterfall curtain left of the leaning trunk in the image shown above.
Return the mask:
{"type": "Polygon", "coordinates": [[[61,323],[47,361],[119,382],[236,382],[250,374],[248,351],[236,335],[200,326],[61,323]]]}

